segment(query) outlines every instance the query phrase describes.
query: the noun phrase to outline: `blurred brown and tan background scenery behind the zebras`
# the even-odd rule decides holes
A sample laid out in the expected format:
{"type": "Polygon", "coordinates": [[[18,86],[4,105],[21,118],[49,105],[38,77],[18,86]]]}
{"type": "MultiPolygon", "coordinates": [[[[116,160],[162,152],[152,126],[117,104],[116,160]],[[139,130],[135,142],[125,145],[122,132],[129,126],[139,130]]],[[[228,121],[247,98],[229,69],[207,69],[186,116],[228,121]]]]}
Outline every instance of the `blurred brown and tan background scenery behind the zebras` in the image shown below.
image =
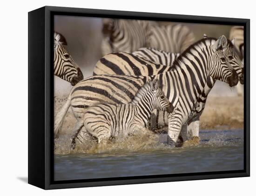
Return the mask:
{"type": "MultiPolygon", "coordinates": [[[[172,22],[159,22],[162,25],[172,22]]],[[[229,38],[230,25],[205,25],[183,23],[194,32],[196,41],[208,37],[229,38]]],[[[74,61],[81,68],[84,78],[92,76],[94,66],[101,56],[102,19],[94,17],[55,16],[54,31],[61,33],[67,40],[65,46],[74,61]]],[[[71,84],[54,76],[54,95],[65,99],[70,92],[71,84]]],[[[56,105],[56,111],[63,105],[56,105]]],[[[72,114],[71,114],[72,115],[72,114]]],[[[226,129],[243,128],[243,97],[237,96],[236,89],[217,81],[211,90],[205,110],[201,116],[201,128],[226,129]]]]}

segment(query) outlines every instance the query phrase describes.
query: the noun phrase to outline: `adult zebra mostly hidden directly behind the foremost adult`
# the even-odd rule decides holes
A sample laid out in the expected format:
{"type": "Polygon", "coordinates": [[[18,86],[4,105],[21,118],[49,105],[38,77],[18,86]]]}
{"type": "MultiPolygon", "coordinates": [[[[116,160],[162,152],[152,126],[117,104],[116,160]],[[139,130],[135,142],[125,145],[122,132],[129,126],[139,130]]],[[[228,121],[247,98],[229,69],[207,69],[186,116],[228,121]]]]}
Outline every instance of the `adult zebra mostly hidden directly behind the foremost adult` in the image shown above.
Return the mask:
{"type": "MultiPolygon", "coordinates": [[[[204,34],[204,38],[208,38],[204,34]]],[[[229,63],[234,67],[236,70],[237,74],[240,76],[240,82],[243,83],[243,66],[239,62],[239,59],[232,58],[232,52],[233,50],[231,49],[234,43],[234,40],[228,41],[230,48],[225,51],[226,57],[229,59],[229,63]],[[230,59],[231,58],[231,59],[230,59]]],[[[153,49],[154,52],[151,52],[152,49],[142,49],[143,52],[138,51],[138,54],[141,55],[141,57],[148,58],[148,60],[151,60],[154,63],[160,63],[160,62],[171,62],[172,59],[171,55],[175,55],[175,53],[168,53],[169,56],[166,56],[166,53],[162,51],[158,51],[153,49]],[[150,55],[150,56],[149,56],[150,55]],[[160,57],[166,56],[162,58],[162,60],[159,60],[160,57]]],[[[134,52],[137,54],[137,51],[134,52]]],[[[134,54],[133,53],[133,54],[134,54]]],[[[178,55],[178,54],[177,54],[178,55]]],[[[155,75],[155,74],[160,74],[165,71],[171,70],[171,67],[167,66],[161,66],[158,64],[154,63],[147,63],[147,60],[144,59],[137,59],[137,61],[134,59],[133,55],[131,54],[125,54],[125,58],[121,55],[121,53],[114,53],[114,54],[109,54],[105,57],[103,57],[96,63],[95,69],[94,69],[94,75],[101,75],[101,74],[119,74],[119,75],[136,75],[136,76],[150,76],[150,75],[155,75]],[[108,63],[106,61],[103,61],[102,59],[108,59],[108,63]],[[145,61],[146,63],[144,63],[145,61]],[[141,63],[142,62],[142,63],[141,63]],[[105,64],[104,64],[105,63],[105,64]],[[116,72],[117,69],[115,69],[112,64],[118,64],[119,71],[118,73],[116,72]],[[154,74],[152,74],[154,73],[154,74]]],[[[172,63],[171,63],[172,65],[172,63]]],[[[208,85],[205,86],[204,91],[202,92],[202,97],[200,98],[202,102],[198,101],[198,107],[203,108],[205,107],[205,101],[207,99],[207,96],[214,86],[216,80],[209,78],[208,85]],[[199,104],[200,103],[200,104],[199,104]]],[[[199,137],[199,117],[193,118],[192,120],[189,120],[188,126],[185,125],[182,129],[182,140],[186,140],[188,138],[195,138],[199,137]]],[[[168,121],[168,116],[166,113],[162,113],[159,111],[155,111],[152,115],[152,119],[150,120],[150,129],[153,131],[156,131],[158,129],[161,129],[164,126],[167,126],[166,122],[168,121]]]]}

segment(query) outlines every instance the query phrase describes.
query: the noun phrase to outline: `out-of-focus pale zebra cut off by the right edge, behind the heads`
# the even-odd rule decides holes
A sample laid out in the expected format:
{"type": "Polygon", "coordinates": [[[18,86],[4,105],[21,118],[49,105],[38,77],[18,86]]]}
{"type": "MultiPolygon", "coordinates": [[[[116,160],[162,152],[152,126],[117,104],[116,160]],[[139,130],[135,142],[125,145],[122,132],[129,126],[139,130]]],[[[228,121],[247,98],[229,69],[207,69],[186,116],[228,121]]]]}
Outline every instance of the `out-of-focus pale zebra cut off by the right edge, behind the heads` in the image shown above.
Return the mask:
{"type": "MultiPolygon", "coordinates": [[[[233,26],[229,33],[229,39],[235,39],[235,51],[236,54],[239,56],[240,60],[243,62],[243,26],[233,26]]],[[[243,96],[243,83],[237,84],[236,90],[238,96],[243,96]]]]}

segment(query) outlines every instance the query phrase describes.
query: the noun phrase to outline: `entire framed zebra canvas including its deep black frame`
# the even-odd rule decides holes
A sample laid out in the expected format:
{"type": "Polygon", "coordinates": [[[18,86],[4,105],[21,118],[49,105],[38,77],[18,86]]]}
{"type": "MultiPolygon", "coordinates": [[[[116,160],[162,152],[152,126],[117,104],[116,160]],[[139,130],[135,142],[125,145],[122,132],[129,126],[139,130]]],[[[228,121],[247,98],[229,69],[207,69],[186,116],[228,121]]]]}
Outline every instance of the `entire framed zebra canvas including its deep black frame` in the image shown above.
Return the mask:
{"type": "Polygon", "coordinates": [[[249,19],[28,13],[28,183],[249,176],[249,19]]]}

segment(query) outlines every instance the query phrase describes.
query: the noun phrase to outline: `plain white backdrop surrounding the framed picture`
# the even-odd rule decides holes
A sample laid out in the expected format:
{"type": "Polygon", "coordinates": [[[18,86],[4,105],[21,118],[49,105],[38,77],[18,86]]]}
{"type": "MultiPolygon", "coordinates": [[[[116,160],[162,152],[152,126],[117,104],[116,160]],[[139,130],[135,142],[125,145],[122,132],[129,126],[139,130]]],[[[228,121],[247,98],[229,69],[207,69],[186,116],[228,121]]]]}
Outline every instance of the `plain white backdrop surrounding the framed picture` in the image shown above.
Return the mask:
{"type": "MultiPolygon", "coordinates": [[[[41,6],[70,6],[138,12],[251,19],[251,73],[256,72],[256,14],[251,0],[37,0],[1,1],[1,195],[245,195],[255,193],[256,140],[251,124],[251,177],[44,191],[27,184],[27,12],[41,6]],[[253,156],[254,153],[254,156],[253,156]],[[254,181],[254,183],[253,183],[254,181]]],[[[251,111],[256,111],[256,77],[251,74],[251,111]]],[[[251,121],[255,114],[251,112],[251,121]]],[[[250,194],[251,195],[251,194],[250,194]]]]}

